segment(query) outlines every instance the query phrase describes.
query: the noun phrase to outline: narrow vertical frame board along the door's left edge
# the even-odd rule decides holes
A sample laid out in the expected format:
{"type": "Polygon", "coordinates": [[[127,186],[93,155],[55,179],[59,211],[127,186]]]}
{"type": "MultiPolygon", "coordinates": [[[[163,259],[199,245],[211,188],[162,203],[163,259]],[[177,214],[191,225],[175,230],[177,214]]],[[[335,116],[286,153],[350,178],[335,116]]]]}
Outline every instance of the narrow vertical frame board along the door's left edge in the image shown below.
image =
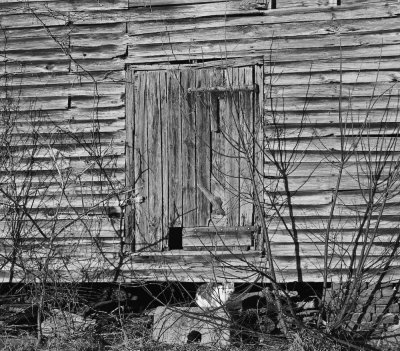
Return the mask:
{"type": "MultiPolygon", "coordinates": [[[[134,190],[135,171],[134,171],[134,129],[135,129],[135,90],[134,90],[134,71],[128,70],[126,76],[126,157],[125,157],[125,186],[127,189],[134,190]]],[[[133,197],[133,191],[127,194],[127,204],[125,207],[125,242],[134,250],[134,207],[129,201],[133,197]]]]}

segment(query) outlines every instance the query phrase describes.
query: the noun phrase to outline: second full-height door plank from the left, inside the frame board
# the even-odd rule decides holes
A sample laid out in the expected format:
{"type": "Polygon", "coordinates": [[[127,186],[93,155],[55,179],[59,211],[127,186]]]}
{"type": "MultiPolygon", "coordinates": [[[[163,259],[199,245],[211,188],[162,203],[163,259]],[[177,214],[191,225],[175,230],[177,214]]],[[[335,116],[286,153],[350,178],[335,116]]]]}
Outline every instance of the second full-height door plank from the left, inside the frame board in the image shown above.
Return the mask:
{"type": "Polygon", "coordinates": [[[148,227],[146,250],[158,250],[162,239],[162,159],[160,72],[147,72],[147,136],[149,165],[148,227]]]}

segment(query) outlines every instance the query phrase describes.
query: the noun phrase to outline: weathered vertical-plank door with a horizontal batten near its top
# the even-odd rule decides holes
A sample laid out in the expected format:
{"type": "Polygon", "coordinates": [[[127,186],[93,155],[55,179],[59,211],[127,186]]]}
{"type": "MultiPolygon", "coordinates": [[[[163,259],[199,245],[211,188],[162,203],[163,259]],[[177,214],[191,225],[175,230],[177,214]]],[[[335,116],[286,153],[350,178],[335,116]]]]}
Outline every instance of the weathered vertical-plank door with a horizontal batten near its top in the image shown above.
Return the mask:
{"type": "Polygon", "coordinates": [[[135,250],[168,248],[173,227],[254,224],[261,72],[259,66],[131,72],[128,174],[145,199],[133,206],[135,250]]]}

